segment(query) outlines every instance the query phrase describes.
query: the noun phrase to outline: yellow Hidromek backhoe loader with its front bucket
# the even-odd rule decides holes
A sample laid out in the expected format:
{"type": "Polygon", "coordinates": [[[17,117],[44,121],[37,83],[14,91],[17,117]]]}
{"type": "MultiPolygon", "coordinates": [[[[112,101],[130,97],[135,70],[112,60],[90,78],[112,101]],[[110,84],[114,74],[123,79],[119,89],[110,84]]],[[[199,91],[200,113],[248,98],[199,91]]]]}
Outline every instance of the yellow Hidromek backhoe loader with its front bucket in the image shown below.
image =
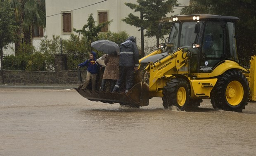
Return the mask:
{"type": "Polygon", "coordinates": [[[251,68],[239,65],[235,22],[237,17],[210,14],[173,17],[167,42],[139,60],[135,85],[127,93],[76,88],[83,97],[104,103],[147,106],[161,97],[164,108],[197,107],[211,99],[215,109],[242,112],[256,100],[255,56],[251,68]],[[251,90],[250,90],[251,88],[251,90]]]}

